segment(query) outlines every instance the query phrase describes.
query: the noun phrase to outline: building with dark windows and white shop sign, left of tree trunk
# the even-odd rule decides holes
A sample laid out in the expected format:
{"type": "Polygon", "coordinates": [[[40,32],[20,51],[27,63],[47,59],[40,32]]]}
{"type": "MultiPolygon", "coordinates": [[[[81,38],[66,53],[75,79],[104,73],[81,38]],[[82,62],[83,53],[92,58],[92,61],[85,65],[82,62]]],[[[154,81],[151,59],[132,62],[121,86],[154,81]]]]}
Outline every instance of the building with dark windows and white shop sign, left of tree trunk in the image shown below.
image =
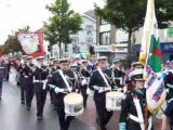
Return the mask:
{"type": "Polygon", "coordinates": [[[97,55],[108,56],[109,62],[114,58],[124,60],[128,52],[128,34],[117,29],[107,21],[97,16],[96,18],[96,47],[97,55]]]}

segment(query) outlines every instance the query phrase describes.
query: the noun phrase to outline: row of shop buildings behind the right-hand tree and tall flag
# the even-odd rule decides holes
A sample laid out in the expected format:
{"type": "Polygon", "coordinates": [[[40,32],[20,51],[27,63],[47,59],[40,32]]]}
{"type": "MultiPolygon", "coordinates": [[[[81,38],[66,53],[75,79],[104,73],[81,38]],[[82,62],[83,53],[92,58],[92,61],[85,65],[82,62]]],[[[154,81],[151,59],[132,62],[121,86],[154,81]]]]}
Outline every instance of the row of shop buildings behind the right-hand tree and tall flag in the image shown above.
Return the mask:
{"type": "MultiPolygon", "coordinates": [[[[97,39],[95,51],[97,55],[106,55],[111,62],[114,58],[128,60],[128,34],[116,28],[108,22],[97,16],[97,39]]],[[[138,57],[143,37],[143,27],[132,34],[132,54],[138,57]]],[[[159,39],[163,63],[173,60],[173,26],[167,29],[159,29],[159,39]]]]}

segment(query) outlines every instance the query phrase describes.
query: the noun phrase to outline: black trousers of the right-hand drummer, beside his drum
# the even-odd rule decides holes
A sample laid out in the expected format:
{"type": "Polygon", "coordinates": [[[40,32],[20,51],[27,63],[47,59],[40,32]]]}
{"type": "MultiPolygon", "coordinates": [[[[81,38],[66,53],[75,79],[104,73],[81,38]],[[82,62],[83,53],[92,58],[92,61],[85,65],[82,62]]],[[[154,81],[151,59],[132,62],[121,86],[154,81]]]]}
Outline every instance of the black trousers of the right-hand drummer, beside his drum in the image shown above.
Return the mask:
{"type": "Polygon", "coordinates": [[[97,112],[97,118],[102,130],[106,130],[106,125],[112,116],[112,112],[106,109],[106,93],[94,95],[94,102],[97,112]]]}

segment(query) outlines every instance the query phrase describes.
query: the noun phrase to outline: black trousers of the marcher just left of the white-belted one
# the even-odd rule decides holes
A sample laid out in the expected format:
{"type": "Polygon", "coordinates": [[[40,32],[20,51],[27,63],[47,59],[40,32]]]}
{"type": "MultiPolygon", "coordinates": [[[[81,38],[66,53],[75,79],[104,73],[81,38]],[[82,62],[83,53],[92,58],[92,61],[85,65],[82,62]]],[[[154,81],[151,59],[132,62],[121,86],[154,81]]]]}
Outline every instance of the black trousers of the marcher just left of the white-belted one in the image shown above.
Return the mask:
{"type": "Polygon", "coordinates": [[[34,82],[30,78],[24,78],[26,105],[30,107],[34,98],[34,82]]]}

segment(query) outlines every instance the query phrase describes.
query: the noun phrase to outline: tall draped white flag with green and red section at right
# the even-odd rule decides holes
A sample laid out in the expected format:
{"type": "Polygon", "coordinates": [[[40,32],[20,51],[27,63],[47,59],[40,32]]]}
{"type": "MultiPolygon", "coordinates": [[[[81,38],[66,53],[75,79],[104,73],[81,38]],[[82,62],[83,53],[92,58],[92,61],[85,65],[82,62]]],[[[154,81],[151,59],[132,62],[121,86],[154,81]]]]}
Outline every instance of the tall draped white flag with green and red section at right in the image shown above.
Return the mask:
{"type": "Polygon", "coordinates": [[[165,92],[155,0],[148,0],[147,3],[139,62],[144,65],[147,106],[151,113],[156,114],[165,99],[165,92]]]}

